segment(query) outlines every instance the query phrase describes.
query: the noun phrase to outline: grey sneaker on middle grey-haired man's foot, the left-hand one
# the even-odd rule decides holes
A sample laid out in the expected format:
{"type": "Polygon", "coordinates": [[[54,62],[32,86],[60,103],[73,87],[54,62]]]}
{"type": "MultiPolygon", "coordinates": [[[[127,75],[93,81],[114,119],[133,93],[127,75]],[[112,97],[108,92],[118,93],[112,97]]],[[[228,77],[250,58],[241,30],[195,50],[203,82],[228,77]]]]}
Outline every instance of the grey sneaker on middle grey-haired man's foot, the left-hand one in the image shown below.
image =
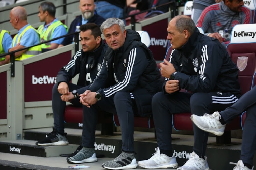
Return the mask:
{"type": "Polygon", "coordinates": [[[95,154],[94,148],[83,147],[75,156],[68,158],[68,163],[85,163],[85,162],[97,162],[98,159],[95,154]]]}

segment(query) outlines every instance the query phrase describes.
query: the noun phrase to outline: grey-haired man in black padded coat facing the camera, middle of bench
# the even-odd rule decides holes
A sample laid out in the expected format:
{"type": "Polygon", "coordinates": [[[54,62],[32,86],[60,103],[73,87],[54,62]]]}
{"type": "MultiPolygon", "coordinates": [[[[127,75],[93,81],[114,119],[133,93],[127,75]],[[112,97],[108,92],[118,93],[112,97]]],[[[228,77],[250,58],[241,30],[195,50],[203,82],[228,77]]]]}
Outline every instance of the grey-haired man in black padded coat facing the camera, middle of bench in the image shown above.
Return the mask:
{"type": "Polygon", "coordinates": [[[118,115],[122,131],[122,152],[102,167],[133,169],[138,164],[134,157],[134,115],[151,114],[152,96],[161,90],[162,78],[153,54],[141,43],[140,35],[125,30],[123,20],[109,18],[101,25],[109,45],[99,76],[80,95],[83,104],[83,149],[68,159],[69,163],[97,161],[94,142],[99,111],[118,115]]]}

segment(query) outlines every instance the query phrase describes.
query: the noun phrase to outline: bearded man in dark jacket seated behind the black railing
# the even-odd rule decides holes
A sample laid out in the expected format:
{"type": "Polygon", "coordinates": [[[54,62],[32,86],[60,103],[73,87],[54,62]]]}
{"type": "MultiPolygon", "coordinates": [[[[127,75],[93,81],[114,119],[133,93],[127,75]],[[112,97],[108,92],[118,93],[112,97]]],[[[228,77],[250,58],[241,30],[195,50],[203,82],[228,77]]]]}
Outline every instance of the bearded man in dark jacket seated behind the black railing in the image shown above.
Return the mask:
{"type": "MultiPolygon", "coordinates": [[[[79,31],[79,26],[86,23],[95,23],[99,27],[102,22],[105,21],[103,17],[97,14],[95,11],[94,0],[80,0],[79,9],[82,13],[79,17],[76,17],[70,24],[69,31],[67,34],[79,31]],[[78,27],[78,28],[77,28],[78,27]]],[[[74,41],[74,35],[69,35],[64,38],[62,43],[58,46],[63,47],[69,45],[74,41]]]]}

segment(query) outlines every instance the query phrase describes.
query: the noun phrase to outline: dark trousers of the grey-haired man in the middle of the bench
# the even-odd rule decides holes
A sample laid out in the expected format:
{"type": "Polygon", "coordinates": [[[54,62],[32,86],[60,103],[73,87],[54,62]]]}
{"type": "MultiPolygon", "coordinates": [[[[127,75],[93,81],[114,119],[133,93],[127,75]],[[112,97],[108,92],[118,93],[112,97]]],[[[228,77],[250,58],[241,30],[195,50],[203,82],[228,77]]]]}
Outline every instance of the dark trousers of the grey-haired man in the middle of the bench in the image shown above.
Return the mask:
{"type": "Polygon", "coordinates": [[[83,106],[82,146],[94,148],[95,128],[98,111],[106,111],[118,115],[122,132],[122,150],[134,152],[133,124],[136,104],[130,92],[117,92],[113,97],[104,98],[90,108],[83,106]]]}

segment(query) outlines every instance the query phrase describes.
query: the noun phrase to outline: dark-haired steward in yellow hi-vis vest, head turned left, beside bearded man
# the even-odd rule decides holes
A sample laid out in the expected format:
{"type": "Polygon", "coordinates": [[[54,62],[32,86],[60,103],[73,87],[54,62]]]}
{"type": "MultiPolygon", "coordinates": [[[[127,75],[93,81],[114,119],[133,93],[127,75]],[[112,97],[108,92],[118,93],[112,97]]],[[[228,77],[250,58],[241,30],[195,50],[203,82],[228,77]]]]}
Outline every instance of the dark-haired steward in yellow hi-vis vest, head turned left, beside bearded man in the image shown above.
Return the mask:
{"type": "MultiPolygon", "coordinates": [[[[67,26],[55,18],[55,12],[56,7],[52,2],[42,2],[39,5],[38,17],[40,22],[44,22],[44,24],[40,25],[37,29],[40,34],[41,42],[66,35],[68,32],[67,26]]],[[[63,40],[64,38],[59,38],[57,40],[41,44],[41,47],[43,50],[55,49],[63,40]]]]}

